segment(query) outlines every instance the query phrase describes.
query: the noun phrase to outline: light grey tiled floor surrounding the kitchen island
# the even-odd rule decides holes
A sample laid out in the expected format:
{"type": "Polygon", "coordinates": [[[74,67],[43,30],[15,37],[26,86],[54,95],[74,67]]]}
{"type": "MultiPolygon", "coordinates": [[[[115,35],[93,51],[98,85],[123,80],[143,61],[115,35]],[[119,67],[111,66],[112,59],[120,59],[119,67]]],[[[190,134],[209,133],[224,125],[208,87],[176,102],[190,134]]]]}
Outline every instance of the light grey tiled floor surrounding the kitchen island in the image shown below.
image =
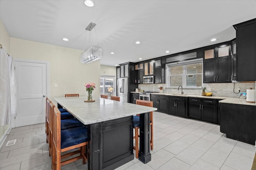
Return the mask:
{"type": "MultiPolygon", "coordinates": [[[[220,126],[154,112],[152,160],[134,160],[118,170],[251,170],[256,147],[225,137],[220,126]]],[[[0,170],[50,170],[45,124],[17,127],[0,148],[0,170]],[[6,147],[9,140],[15,145],[6,147]]],[[[63,170],[86,170],[81,160],[63,170]]]]}

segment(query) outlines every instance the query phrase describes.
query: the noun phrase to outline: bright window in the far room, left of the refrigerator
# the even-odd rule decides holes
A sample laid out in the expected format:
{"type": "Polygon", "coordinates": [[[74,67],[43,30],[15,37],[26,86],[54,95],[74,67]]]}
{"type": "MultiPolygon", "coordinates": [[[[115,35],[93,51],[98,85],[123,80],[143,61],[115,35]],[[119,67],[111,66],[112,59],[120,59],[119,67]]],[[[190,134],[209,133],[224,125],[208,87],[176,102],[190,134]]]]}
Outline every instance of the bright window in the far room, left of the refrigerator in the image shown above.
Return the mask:
{"type": "Polygon", "coordinates": [[[115,96],[115,78],[111,76],[100,77],[100,94],[115,96]]]}

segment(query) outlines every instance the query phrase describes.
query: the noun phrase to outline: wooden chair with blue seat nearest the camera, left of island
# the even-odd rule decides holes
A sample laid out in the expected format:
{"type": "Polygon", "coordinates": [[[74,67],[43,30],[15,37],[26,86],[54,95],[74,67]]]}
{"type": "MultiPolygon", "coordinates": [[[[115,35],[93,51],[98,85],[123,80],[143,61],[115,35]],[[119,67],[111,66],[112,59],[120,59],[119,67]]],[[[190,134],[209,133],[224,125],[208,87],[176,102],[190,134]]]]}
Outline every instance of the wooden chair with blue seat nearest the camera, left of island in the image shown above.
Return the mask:
{"type": "Polygon", "coordinates": [[[52,138],[52,169],[60,170],[61,166],[69,164],[79,159],[82,159],[83,164],[88,162],[88,157],[86,152],[87,145],[88,145],[87,128],[76,127],[72,129],[61,130],[60,111],[57,107],[54,107],[53,138],[52,138]],[[72,151],[66,152],[70,150],[72,151]],[[76,156],[75,154],[79,154],[79,155],[76,156]]]}

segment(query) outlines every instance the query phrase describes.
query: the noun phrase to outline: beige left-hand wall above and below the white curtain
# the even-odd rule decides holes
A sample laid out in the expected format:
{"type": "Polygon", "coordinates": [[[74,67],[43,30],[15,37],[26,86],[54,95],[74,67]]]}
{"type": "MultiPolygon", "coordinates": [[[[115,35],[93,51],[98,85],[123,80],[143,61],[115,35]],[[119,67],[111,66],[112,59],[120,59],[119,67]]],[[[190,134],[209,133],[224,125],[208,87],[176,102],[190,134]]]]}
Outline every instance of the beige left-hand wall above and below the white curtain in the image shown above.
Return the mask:
{"type": "MultiPolygon", "coordinates": [[[[0,44],[6,49],[7,53],[10,54],[10,36],[6,31],[4,23],[0,20],[0,44]]],[[[0,139],[4,137],[4,133],[7,133],[10,125],[0,126],[0,139]]],[[[0,141],[1,144],[1,141],[0,141]]]]}

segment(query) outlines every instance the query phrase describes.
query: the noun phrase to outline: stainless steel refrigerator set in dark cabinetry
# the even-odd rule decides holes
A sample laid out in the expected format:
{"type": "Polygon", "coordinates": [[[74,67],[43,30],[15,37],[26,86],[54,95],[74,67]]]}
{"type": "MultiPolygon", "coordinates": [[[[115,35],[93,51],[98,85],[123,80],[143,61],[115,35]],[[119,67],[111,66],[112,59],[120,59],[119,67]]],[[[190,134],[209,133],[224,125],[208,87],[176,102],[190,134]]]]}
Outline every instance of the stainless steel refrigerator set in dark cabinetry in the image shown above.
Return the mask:
{"type": "Polygon", "coordinates": [[[120,97],[120,102],[128,102],[128,78],[117,79],[117,96],[120,97]]]}

